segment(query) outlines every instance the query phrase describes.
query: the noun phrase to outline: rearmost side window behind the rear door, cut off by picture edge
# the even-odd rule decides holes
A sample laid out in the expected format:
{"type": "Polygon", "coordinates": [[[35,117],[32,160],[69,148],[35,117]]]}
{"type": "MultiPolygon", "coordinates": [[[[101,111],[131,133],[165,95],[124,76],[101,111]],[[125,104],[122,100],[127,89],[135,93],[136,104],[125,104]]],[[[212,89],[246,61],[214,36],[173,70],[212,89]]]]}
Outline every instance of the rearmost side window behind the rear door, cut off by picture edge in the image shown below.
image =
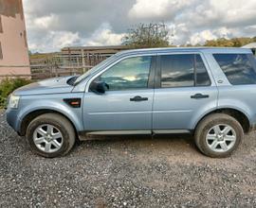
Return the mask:
{"type": "Polygon", "coordinates": [[[255,59],[251,54],[213,54],[233,85],[256,84],[255,59]]]}

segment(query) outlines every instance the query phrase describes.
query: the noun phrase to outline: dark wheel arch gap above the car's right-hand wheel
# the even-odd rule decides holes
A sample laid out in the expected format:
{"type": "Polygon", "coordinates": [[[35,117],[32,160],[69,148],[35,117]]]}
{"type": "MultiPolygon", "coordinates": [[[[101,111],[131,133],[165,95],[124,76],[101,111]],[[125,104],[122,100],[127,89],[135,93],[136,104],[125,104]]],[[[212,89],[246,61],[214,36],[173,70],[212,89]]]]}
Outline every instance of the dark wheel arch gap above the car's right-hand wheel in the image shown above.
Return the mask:
{"type": "Polygon", "coordinates": [[[242,126],[245,133],[249,132],[251,130],[250,128],[250,121],[248,119],[247,113],[242,112],[241,110],[237,110],[234,108],[219,108],[210,111],[209,113],[206,113],[198,119],[198,121],[195,123],[194,130],[196,130],[199,123],[207,116],[213,113],[226,113],[235,118],[242,126]]]}

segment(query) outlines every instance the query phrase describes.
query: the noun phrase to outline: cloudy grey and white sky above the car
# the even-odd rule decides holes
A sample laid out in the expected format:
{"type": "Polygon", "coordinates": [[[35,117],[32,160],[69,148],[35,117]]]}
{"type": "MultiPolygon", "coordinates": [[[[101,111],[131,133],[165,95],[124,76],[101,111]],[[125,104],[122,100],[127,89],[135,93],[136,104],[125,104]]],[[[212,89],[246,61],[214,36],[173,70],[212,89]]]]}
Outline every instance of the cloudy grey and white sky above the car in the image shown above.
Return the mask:
{"type": "Polygon", "coordinates": [[[33,52],[117,45],[128,28],[164,22],[170,43],[256,36],[256,0],[23,0],[33,52]]]}

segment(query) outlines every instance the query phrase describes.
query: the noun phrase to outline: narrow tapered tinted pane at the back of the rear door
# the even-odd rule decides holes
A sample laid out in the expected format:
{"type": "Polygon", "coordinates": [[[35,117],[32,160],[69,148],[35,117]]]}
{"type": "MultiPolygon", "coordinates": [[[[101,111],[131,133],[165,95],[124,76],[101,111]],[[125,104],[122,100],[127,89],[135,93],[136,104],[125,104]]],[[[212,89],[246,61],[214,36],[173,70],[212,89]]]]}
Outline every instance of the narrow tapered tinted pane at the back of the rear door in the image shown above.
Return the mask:
{"type": "Polygon", "coordinates": [[[210,78],[207,73],[206,66],[200,55],[196,55],[195,59],[196,86],[210,85],[210,78]]]}

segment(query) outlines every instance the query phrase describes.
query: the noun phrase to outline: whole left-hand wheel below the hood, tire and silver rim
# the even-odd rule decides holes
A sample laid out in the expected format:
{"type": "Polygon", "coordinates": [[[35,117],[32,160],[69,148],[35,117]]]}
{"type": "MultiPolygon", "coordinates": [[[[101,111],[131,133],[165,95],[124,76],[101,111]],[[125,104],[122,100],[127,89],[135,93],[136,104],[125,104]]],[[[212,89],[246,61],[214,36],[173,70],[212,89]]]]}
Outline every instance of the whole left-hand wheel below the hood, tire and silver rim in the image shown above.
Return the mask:
{"type": "Polygon", "coordinates": [[[27,141],[31,149],[44,157],[64,156],[75,144],[75,130],[70,122],[57,113],[36,117],[27,128],[27,141]]]}

